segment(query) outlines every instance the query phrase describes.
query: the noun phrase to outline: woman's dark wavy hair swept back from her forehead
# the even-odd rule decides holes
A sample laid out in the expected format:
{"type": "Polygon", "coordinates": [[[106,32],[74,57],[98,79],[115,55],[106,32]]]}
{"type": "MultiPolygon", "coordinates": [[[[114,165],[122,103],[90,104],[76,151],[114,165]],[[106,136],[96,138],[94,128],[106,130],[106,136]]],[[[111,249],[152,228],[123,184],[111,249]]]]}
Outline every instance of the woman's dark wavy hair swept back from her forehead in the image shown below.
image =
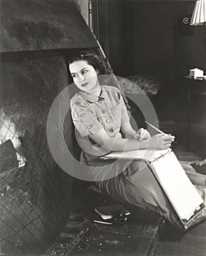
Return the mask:
{"type": "Polygon", "coordinates": [[[90,50],[81,50],[68,57],[68,65],[74,61],[87,61],[87,63],[94,67],[95,70],[99,70],[100,75],[108,73],[108,68],[103,57],[98,56],[90,50]]]}

